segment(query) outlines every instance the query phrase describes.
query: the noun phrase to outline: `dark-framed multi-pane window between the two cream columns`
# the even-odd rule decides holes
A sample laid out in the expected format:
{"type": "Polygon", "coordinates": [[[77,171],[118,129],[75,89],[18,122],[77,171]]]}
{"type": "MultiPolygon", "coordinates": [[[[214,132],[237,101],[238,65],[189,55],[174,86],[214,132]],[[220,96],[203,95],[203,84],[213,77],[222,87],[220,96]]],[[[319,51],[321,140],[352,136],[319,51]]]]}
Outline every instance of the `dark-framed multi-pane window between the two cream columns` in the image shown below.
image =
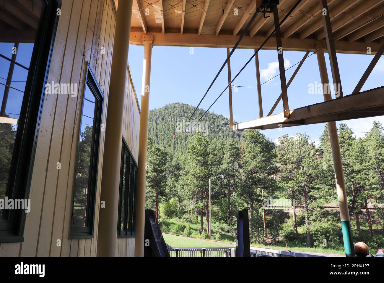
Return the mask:
{"type": "Polygon", "coordinates": [[[136,224],[137,163],[122,140],[118,237],[134,237],[136,224]]]}

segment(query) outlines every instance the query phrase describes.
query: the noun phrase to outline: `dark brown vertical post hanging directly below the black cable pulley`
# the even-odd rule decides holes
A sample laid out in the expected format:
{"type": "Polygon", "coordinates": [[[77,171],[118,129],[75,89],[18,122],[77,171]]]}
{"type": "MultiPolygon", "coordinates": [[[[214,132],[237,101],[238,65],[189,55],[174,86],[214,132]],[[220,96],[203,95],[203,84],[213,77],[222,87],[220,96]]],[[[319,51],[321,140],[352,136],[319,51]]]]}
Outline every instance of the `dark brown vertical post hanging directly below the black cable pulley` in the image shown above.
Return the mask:
{"type": "Polygon", "coordinates": [[[285,68],[284,68],[284,56],[283,56],[283,44],[281,43],[281,32],[279,26],[279,12],[277,10],[277,5],[273,9],[273,19],[275,20],[276,30],[276,45],[277,45],[277,57],[279,62],[280,70],[280,84],[281,84],[281,96],[283,98],[283,109],[284,117],[289,118],[289,106],[288,106],[288,95],[287,95],[287,84],[285,78],[285,68]]]}

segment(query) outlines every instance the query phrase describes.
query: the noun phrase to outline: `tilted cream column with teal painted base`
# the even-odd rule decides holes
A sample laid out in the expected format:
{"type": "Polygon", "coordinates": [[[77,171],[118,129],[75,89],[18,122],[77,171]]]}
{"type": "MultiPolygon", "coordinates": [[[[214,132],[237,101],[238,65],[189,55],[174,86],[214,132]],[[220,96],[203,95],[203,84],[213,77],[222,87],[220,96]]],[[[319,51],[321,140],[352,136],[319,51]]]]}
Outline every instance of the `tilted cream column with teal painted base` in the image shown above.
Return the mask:
{"type": "MultiPolygon", "coordinates": [[[[328,72],[325,64],[324,50],[318,50],[317,60],[319,64],[319,71],[321,77],[321,84],[323,85],[324,101],[331,100],[331,93],[329,87],[328,72]]],[[[336,122],[328,122],[329,139],[332,147],[333,167],[336,178],[336,189],[339,202],[341,228],[343,230],[344,250],[346,256],[354,256],[353,239],[351,231],[351,220],[349,218],[347,192],[345,189],[343,164],[341,162],[339,137],[336,127],[336,122]]]]}

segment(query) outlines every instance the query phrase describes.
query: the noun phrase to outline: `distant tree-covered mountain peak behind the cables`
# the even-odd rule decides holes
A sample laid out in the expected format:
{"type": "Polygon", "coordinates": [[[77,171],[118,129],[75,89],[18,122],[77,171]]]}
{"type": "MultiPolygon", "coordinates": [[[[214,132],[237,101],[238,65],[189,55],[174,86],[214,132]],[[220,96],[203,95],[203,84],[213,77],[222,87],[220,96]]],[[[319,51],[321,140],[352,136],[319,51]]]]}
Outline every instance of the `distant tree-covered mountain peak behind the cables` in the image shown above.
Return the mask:
{"type": "Polygon", "coordinates": [[[222,115],[207,112],[199,124],[192,129],[205,112],[203,109],[198,109],[189,124],[188,119],[194,110],[195,106],[184,103],[171,103],[150,110],[148,136],[159,146],[169,149],[172,153],[186,152],[188,138],[197,131],[203,132],[211,141],[220,139],[226,142],[229,138],[233,138],[240,145],[243,140],[242,132],[230,129],[229,119],[222,115]]]}

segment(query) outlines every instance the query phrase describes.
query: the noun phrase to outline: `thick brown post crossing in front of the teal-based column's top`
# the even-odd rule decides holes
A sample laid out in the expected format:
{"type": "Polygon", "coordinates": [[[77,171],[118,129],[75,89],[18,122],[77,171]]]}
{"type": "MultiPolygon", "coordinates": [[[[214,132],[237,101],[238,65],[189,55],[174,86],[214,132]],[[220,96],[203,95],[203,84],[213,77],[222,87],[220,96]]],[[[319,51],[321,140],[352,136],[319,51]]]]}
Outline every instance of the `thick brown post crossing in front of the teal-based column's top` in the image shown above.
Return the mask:
{"type": "Polygon", "coordinates": [[[323,15],[324,33],[325,33],[325,39],[327,42],[329,61],[331,63],[333,84],[336,84],[334,88],[335,95],[336,95],[336,98],[341,98],[343,97],[343,89],[341,87],[339,65],[336,57],[336,48],[335,48],[334,39],[333,39],[331,20],[329,19],[328,4],[327,4],[327,0],[319,0],[319,1],[323,9],[321,11],[321,14],[323,15]]]}

